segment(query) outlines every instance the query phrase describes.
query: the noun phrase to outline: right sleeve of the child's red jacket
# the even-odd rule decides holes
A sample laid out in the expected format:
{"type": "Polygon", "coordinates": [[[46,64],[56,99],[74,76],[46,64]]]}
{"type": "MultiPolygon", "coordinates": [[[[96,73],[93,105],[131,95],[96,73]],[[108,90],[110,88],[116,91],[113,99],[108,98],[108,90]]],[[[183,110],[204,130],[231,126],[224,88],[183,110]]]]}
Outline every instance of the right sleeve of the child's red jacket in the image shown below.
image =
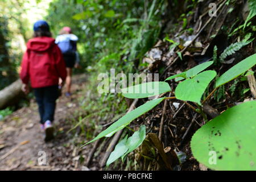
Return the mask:
{"type": "Polygon", "coordinates": [[[66,65],[63,59],[63,55],[60,51],[60,48],[56,45],[55,46],[55,60],[56,60],[56,69],[59,74],[59,77],[64,82],[67,77],[66,65]]]}

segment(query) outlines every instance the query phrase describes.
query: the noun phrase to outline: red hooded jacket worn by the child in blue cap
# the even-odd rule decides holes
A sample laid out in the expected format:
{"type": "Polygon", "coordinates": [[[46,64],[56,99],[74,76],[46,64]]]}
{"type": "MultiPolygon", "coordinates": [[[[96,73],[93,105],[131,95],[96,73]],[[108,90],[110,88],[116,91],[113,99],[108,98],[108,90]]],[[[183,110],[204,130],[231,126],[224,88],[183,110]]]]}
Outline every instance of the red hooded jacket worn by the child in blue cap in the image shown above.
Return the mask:
{"type": "Polygon", "coordinates": [[[66,76],[63,55],[55,39],[43,36],[28,41],[20,72],[24,84],[30,80],[32,88],[42,88],[57,85],[59,77],[65,80],[66,76]]]}

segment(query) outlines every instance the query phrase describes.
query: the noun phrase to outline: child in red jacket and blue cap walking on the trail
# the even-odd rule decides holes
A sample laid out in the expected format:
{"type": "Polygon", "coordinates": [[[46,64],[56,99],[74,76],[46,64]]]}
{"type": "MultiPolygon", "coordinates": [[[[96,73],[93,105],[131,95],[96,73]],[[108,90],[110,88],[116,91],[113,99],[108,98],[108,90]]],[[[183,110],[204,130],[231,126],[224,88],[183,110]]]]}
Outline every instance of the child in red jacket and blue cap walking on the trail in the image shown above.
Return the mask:
{"type": "Polygon", "coordinates": [[[34,89],[39,106],[41,128],[45,130],[46,141],[53,138],[53,126],[56,100],[59,97],[58,86],[63,86],[67,71],[63,55],[51,38],[49,25],[43,20],[34,24],[34,38],[27,43],[23,55],[20,78],[22,90],[28,93],[28,82],[34,89]],[[59,78],[60,84],[59,85],[59,78]]]}

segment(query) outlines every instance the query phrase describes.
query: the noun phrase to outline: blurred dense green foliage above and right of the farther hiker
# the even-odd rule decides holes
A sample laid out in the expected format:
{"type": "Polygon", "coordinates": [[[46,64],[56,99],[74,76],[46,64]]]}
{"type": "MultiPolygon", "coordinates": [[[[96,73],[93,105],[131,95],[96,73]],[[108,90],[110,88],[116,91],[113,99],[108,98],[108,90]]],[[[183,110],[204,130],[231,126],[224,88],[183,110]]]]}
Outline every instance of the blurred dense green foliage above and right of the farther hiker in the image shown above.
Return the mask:
{"type": "Polygon", "coordinates": [[[164,1],[53,1],[47,20],[58,34],[70,26],[78,35],[82,65],[97,72],[110,68],[131,71],[134,59],[140,59],[156,42],[164,1]],[[60,22],[56,24],[56,22],[60,22]],[[96,66],[96,67],[95,67],[96,66]]]}

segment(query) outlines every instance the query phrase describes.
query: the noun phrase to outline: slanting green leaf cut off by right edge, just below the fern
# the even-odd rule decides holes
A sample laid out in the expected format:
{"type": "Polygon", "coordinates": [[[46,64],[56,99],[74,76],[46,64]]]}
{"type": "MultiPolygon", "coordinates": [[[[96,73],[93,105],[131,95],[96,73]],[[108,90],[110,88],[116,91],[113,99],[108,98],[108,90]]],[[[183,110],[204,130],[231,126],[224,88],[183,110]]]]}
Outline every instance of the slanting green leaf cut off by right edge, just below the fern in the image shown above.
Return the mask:
{"type": "Polygon", "coordinates": [[[245,60],[240,61],[240,63],[234,65],[234,67],[230,68],[223,75],[218,77],[216,80],[216,88],[226,84],[231,80],[234,80],[234,78],[242,75],[242,73],[246,72],[255,64],[256,64],[256,53],[250,57],[247,57],[245,60]]]}

